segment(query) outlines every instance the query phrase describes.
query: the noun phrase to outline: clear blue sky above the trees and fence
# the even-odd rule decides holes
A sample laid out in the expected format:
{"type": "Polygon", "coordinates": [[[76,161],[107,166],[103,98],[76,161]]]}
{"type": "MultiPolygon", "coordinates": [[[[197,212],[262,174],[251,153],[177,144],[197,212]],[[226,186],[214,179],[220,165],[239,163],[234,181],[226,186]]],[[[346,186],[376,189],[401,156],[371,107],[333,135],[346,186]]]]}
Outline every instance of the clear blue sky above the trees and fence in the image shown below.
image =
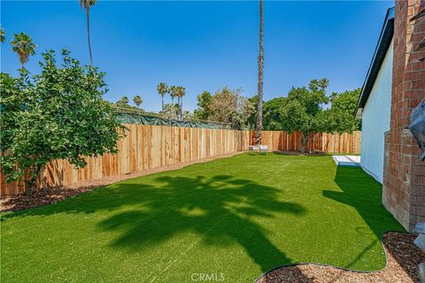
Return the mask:
{"type": "MultiPolygon", "coordinates": [[[[328,78],[331,91],[361,87],[383,19],[392,1],[266,2],[264,98],[286,96],[292,86],[328,78]]],[[[159,81],[187,89],[186,109],[197,95],[223,86],[257,93],[259,4],[251,2],[99,1],[91,10],[94,65],[106,73],[105,98],[143,97],[158,111],[159,81]]],[[[7,43],[2,72],[17,74],[8,44],[14,33],[38,45],[27,69],[38,73],[41,51],[67,48],[89,63],[85,13],[78,1],[1,1],[7,43]]]]}

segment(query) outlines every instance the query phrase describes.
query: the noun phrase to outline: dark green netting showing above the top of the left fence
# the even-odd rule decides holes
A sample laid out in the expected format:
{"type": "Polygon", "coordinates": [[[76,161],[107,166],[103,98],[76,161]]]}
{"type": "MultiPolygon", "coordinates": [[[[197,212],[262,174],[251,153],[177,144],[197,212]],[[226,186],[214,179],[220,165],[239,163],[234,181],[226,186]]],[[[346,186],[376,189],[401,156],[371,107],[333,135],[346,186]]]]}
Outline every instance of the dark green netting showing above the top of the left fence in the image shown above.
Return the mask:
{"type": "Polygon", "coordinates": [[[154,126],[181,126],[181,127],[200,127],[209,129],[234,129],[235,126],[225,123],[217,123],[212,121],[195,120],[195,119],[173,119],[161,117],[159,114],[143,113],[117,109],[117,119],[123,124],[139,124],[154,126]]]}

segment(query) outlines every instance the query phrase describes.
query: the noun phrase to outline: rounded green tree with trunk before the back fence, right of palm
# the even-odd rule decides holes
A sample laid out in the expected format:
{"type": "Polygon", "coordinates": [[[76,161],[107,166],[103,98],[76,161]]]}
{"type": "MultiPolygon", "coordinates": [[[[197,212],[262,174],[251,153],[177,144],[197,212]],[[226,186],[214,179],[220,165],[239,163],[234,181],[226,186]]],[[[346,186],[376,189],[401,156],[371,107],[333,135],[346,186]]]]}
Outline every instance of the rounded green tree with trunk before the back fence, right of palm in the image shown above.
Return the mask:
{"type": "Polygon", "coordinates": [[[284,131],[301,133],[301,152],[305,153],[307,143],[315,134],[335,131],[328,127],[323,105],[328,103],[326,96],[328,80],[311,80],[308,88],[290,89],[288,102],[280,109],[280,121],[284,131]]]}

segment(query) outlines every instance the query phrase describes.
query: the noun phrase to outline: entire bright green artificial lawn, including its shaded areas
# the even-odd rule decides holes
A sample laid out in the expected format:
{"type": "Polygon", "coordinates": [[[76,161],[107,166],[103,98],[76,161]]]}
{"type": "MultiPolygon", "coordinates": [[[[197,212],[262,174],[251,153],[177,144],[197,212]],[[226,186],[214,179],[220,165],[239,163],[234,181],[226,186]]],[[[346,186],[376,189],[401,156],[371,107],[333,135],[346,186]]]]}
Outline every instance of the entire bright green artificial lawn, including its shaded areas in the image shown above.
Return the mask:
{"type": "Polygon", "coordinates": [[[243,154],[126,180],[3,214],[1,281],[251,282],[298,262],[379,270],[382,233],[403,231],[381,190],[330,156],[243,154]]]}

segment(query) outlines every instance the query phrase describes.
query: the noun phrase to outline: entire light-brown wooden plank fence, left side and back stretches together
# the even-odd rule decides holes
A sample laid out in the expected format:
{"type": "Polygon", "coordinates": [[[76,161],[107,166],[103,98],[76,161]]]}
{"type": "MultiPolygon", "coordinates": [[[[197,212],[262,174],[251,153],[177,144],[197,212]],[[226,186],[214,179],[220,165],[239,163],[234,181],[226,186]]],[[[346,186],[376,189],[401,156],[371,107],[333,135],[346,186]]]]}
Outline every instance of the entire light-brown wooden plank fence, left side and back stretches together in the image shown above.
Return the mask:
{"type": "MultiPolygon", "coordinates": [[[[118,142],[119,153],[87,157],[87,166],[74,169],[65,160],[55,160],[37,180],[37,187],[67,186],[83,180],[139,172],[171,164],[217,157],[248,149],[253,131],[207,129],[174,126],[126,125],[127,136],[118,142]]],[[[359,153],[360,132],[354,134],[318,134],[308,149],[324,152],[359,153]]],[[[300,134],[264,131],[263,144],[270,150],[300,149],[300,134]]],[[[24,191],[23,182],[5,184],[1,178],[1,195],[24,191]]]]}

